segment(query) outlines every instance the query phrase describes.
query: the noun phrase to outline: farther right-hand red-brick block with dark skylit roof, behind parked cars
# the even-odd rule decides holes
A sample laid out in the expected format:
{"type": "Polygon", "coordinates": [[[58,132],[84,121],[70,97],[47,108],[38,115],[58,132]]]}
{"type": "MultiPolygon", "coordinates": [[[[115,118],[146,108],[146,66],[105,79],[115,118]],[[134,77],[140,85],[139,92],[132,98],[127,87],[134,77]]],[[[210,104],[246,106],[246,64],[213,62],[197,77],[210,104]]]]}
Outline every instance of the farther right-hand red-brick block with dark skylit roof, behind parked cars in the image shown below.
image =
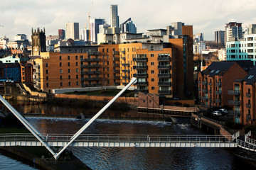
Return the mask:
{"type": "Polygon", "coordinates": [[[198,97],[201,106],[235,106],[233,95],[237,91],[231,90],[233,82],[243,79],[252,67],[250,61],[213,62],[203,72],[199,72],[198,97]]]}

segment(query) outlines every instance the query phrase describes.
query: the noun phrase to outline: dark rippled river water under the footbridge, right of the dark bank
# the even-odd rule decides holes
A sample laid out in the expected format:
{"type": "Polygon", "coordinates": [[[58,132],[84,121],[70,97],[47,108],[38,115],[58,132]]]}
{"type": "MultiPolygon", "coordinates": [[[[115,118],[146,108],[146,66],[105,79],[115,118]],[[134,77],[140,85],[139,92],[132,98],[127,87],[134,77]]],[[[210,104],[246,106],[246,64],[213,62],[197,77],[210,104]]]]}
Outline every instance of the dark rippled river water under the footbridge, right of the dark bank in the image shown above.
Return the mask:
{"type": "MultiPolygon", "coordinates": [[[[16,106],[21,113],[68,114],[90,113],[95,110],[55,106],[16,106]],[[43,109],[43,111],[42,111],[43,109]],[[80,111],[78,111],[81,109],[80,111]],[[84,110],[83,110],[84,109],[84,110]],[[86,111],[85,111],[86,110],[86,111]],[[56,111],[56,112],[54,112],[56,111]]],[[[110,111],[121,113],[121,111],[110,111]]],[[[97,112],[95,112],[97,113],[97,112]]],[[[132,114],[132,113],[124,113],[132,114]]],[[[32,118],[26,117],[38,131],[43,133],[73,134],[88,119],[32,118]]],[[[188,118],[178,118],[177,124],[131,120],[96,120],[85,133],[122,135],[203,135],[201,130],[191,127],[188,118]]],[[[223,148],[122,148],[122,147],[69,147],[73,154],[91,169],[252,169],[237,157],[231,149],[223,148]]],[[[1,163],[1,162],[0,162],[1,163]]],[[[1,166],[0,166],[1,167],[1,166]]]]}

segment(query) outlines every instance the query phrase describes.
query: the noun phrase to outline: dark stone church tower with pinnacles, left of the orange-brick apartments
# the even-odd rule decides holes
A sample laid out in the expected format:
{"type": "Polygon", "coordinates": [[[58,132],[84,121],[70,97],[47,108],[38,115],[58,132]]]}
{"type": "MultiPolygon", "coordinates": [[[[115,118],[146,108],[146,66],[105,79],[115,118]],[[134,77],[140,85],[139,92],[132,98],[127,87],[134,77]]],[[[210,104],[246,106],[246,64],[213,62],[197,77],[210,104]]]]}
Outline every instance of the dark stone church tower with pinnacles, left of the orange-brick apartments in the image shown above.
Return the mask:
{"type": "Polygon", "coordinates": [[[32,28],[32,49],[31,55],[40,55],[41,52],[46,52],[46,30],[40,30],[39,28],[33,32],[32,28]]]}

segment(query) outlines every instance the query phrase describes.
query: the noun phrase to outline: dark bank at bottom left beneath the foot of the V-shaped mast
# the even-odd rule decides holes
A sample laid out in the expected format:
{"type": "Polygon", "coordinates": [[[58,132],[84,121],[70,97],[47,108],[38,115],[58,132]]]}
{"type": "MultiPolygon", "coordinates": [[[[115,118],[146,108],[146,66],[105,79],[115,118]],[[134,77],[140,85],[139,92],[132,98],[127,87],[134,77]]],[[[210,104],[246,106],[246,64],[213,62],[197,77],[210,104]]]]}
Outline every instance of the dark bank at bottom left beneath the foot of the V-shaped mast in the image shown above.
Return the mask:
{"type": "Polygon", "coordinates": [[[0,147],[4,152],[9,154],[14,154],[16,157],[19,157],[23,161],[31,162],[31,164],[36,164],[38,169],[47,169],[47,170],[70,170],[70,169],[90,169],[87,165],[82,163],[74,155],[70,156],[68,159],[42,159],[35,157],[33,154],[26,152],[25,150],[19,147],[0,147]]]}

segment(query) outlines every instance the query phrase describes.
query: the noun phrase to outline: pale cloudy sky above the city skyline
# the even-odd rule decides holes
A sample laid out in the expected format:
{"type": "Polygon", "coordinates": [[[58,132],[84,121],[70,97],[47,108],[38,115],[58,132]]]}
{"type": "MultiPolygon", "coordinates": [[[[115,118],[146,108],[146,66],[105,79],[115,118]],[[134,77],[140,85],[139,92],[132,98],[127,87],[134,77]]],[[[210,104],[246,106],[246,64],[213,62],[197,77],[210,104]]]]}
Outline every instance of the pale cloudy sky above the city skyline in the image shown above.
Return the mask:
{"type": "Polygon", "coordinates": [[[110,4],[118,4],[119,23],[132,18],[138,33],[181,21],[193,26],[194,34],[214,40],[214,31],[224,30],[225,23],[240,22],[243,28],[256,23],[255,0],[6,0],[1,1],[0,38],[30,37],[31,28],[38,27],[46,28],[46,35],[58,35],[68,22],[78,22],[82,30],[91,6],[91,18],[108,22],[110,4]]]}

